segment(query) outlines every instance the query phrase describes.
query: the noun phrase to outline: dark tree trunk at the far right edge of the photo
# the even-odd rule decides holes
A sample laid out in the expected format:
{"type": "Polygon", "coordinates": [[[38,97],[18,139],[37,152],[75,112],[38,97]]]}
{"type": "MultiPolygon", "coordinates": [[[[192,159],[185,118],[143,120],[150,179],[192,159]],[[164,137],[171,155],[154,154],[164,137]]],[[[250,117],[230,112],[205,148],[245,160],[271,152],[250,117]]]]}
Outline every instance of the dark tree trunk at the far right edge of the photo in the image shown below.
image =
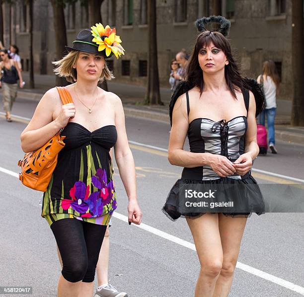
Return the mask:
{"type": "Polygon", "coordinates": [[[292,67],[294,98],[291,124],[293,126],[304,126],[303,0],[293,0],[292,5],[292,67]]]}

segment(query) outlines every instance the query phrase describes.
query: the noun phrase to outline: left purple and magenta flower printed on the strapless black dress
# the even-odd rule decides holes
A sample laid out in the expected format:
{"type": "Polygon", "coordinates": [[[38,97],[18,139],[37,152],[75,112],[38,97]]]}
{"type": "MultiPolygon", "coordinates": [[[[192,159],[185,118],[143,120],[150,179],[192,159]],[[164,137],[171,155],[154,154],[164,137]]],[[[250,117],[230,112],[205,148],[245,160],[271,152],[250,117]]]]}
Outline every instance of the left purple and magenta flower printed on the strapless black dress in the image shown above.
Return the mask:
{"type": "Polygon", "coordinates": [[[86,200],[90,192],[89,186],[86,186],[82,181],[76,181],[74,187],[70,189],[71,199],[63,199],[61,207],[64,210],[72,207],[79,214],[83,214],[88,210],[86,200]]]}

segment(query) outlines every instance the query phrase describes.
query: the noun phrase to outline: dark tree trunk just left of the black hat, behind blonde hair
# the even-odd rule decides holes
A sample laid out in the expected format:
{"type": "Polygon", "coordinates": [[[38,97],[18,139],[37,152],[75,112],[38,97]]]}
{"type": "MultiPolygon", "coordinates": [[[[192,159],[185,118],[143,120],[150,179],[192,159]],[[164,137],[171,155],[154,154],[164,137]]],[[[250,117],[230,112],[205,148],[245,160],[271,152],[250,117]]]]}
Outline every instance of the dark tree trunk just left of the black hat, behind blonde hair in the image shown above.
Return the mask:
{"type": "MultiPolygon", "coordinates": [[[[67,29],[65,21],[64,6],[62,1],[51,0],[54,13],[54,30],[55,30],[55,42],[56,42],[56,53],[55,59],[58,61],[62,58],[65,46],[68,44],[67,41],[67,29]]],[[[56,85],[65,86],[69,82],[64,77],[56,76],[56,85]]]]}

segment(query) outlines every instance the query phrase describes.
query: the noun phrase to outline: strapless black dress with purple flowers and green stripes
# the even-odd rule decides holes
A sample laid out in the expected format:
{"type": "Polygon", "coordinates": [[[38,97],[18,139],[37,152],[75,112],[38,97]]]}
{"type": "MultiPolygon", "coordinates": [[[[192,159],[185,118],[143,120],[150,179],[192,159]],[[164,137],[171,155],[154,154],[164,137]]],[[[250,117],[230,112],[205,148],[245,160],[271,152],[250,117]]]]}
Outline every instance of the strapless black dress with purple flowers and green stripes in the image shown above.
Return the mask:
{"type": "Polygon", "coordinates": [[[117,141],[116,127],[90,132],[69,122],[61,135],[66,145],[44,192],[41,216],[50,225],[65,218],[108,225],[117,208],[109,154],[117,141]]]}

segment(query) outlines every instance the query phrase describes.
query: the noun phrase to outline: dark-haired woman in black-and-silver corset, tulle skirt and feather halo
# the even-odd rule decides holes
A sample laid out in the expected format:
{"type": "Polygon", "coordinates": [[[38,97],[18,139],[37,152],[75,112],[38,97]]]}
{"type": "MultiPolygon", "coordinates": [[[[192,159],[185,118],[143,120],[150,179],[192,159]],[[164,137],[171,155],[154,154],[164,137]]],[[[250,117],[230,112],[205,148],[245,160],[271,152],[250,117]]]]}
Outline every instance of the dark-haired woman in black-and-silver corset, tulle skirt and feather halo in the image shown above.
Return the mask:
{"type": "Polygon", "coordinates": [[[200,34],[187,79],[176,87],[170,103],[168,159],[184,169],[162,211],[172,221],[185,217],[192,232],[201,265],[195,297],[228,296],[247,218],[252,212],[265,213],[262,194],[250,172],[259,152],[255,117],[263,97],[255,98],[249,89],[259,85],[242,77],[235,63],[226,38],[228,20],[213,16],[196,25],[200,34]],[[220,29],[208,31],[210,21],[220,23],[220,29]],[[190,151],[183,149],[187,135],[190,151]],[[193,189],[207,194],[219,189],[220,198],[230,203],[227,211],[209,202],[215,192],[207,195],[204,212],[195,205],[188,210],[187,202],[192,200],[183,193],[193,189]]]}

